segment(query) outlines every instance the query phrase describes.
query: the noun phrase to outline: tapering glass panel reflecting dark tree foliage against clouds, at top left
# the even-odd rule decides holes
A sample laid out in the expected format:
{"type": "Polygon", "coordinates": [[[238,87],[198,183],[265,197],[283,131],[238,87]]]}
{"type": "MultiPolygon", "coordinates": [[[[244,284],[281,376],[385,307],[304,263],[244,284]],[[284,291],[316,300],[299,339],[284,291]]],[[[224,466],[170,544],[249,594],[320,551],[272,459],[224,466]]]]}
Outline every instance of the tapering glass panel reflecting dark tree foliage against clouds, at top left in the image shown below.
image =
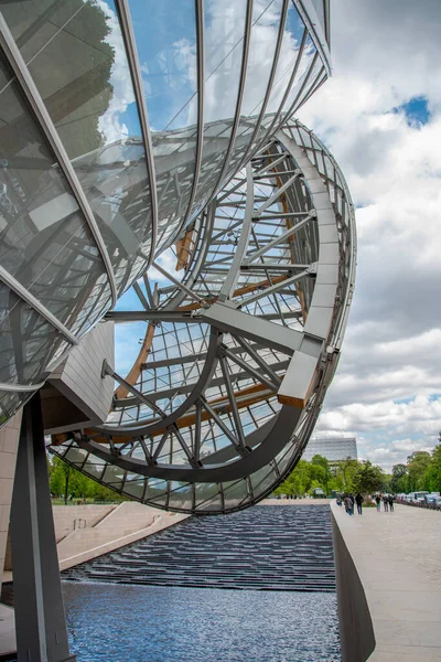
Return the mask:
{"type": "Polygon", "coordinates": [[[103,234],[121,293],[150,253],[151,203],[135,94],[115,4],[2,7],[103,234]],[[47,75],[51,72],[51,75],[47,75]]]}

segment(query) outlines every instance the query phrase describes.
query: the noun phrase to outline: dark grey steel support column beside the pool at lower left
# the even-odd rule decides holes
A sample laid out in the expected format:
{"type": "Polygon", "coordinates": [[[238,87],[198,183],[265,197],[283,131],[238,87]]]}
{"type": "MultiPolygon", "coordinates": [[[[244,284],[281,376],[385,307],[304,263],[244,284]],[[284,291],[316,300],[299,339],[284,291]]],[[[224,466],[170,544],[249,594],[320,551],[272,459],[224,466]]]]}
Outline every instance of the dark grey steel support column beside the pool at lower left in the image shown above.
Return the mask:
{"type": "Polygon", "coordinates": [[[23,409],[10,526],[18,660],[75,662],[67,642],[40,393],[23,409]]]}

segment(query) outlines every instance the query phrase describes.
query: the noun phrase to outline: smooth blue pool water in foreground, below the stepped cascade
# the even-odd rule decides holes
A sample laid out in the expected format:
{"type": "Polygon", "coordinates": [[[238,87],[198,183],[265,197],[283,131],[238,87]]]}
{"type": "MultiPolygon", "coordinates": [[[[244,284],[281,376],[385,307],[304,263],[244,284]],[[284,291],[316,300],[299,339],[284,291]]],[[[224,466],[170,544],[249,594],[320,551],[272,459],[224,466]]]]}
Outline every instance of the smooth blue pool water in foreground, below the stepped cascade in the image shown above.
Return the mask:
{"type": "Polygon", "coordinates": [[[335,594],[63,583],[78,662],[340,662],[335,594]]]}

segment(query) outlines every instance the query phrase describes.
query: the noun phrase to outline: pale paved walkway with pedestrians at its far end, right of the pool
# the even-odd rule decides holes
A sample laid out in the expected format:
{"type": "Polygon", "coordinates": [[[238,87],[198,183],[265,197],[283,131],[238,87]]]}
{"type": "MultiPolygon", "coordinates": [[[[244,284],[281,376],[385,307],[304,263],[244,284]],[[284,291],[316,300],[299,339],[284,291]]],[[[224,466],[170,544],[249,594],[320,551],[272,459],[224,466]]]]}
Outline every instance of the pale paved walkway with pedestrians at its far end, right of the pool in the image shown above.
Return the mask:
{"type": "MultiPolygon", "coordinates": [[[[335,522],[363,585],[376,648],[369,662],[441,660],[441,513],[397,504],[335,522]]],[[[344,580],[344,578],[343,578],[344,580]]]]}

